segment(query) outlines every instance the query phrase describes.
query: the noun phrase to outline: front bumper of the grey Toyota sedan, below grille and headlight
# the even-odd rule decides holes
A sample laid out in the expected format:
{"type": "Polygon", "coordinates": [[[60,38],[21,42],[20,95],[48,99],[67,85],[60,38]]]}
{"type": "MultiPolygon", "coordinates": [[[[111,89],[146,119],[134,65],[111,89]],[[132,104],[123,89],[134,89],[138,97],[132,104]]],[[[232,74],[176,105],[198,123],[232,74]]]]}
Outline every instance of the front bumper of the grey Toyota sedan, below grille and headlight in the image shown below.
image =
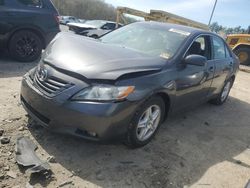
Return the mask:
{"type": "MultiPolygon", "coordinates": [[[[25,75],[21,103],[28,114],[42,126],[90,140],[121,139],[137,109],[136,102],[99,103],[61,100],[60,94],[46,97],[25,75]],[[93,136],[95,133],[96,136],[93,136]]],[[[67,97],[69,98],[69,96],[67,97]]]]}

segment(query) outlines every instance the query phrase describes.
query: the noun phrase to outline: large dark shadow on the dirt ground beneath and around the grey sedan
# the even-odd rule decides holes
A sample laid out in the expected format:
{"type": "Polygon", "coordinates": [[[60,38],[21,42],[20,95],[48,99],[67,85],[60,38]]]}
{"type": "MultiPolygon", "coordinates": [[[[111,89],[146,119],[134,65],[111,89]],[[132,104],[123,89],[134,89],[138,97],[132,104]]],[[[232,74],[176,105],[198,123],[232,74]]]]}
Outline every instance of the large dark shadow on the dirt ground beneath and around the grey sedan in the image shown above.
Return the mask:
{"type": "Polygon", "coordinates": [[[42,150],[73,172],[73,180],[101,187],[183,187],[224,161],[249,168],[235,158],[248,148],[249,111],[249,103],[234,97],[222,106],[201,105],[168,119],[151,143],[134,150],[29,129],[42,150]]]}

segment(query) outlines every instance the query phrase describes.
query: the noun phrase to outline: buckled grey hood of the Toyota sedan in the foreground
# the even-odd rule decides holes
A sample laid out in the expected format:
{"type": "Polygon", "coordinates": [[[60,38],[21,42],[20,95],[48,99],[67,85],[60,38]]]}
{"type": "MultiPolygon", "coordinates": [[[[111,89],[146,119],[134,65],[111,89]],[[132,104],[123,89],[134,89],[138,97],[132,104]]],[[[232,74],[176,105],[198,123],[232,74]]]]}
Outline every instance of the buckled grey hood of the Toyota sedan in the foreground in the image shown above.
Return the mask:
{"type": "Polygon", "coordinates": [[[43,62],[88,79],[115,80],[124,74],[161,70],[166,59],[98,40],[61,33],[49,44],[43,62]]]}

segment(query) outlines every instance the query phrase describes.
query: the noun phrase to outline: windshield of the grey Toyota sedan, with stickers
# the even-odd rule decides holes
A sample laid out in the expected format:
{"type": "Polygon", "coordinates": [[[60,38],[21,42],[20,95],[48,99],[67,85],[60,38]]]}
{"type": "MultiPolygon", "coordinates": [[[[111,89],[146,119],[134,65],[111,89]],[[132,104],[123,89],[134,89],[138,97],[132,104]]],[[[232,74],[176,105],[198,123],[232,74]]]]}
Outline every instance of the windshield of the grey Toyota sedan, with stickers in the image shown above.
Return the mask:
{"type": "Polygon", "coordinates": [[[100,38],[101,42],[119,45],[149,56],[171,58],[189,32],[155,24],[134,23],[100,38]]]}

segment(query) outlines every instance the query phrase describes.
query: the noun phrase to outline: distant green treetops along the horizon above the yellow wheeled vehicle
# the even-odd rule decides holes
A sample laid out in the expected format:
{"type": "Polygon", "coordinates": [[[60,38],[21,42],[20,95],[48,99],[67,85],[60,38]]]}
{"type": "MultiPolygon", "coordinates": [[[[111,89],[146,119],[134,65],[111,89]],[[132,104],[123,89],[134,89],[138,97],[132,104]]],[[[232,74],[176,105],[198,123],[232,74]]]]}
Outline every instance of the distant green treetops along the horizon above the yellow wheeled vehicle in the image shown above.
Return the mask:
{"type": "Polygon", "coordinates": [[[209,26],[210,30],[215,33],[225,33],[228,34],[236,34],[236,33],[248,33],[250,30],[250,26],[248,26],[248,29],[244,29],[241,26],[237,27],[223,27],[222,25],[219,25],[217,22],[212,23],[209,26]]]}

